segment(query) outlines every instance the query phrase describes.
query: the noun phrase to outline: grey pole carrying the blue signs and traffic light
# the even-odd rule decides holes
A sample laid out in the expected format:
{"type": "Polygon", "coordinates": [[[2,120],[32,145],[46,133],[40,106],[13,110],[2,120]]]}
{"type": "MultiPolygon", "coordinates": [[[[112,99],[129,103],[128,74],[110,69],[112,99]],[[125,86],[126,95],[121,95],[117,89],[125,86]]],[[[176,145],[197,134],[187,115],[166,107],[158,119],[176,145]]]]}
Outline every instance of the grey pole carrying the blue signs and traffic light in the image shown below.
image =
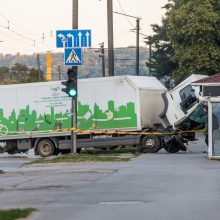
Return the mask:
{"type": "MultiPolygon", "coordinates": [[[[73,0],[73,11],[72,11],[72,29],[78,29],[78,0],[73,0]]],[[[72,67],[73,74],[75,75],[77,85],[77,66],[72,67]]],[[[76,88],[78,90],[78,88],[76,88]]],[[[72,98],[72,112],[71,121],[72,128],[77,128],[77,94],[75,98],[72,98]]],[[[71,130],[71,153],[76,154],[76,132],[71,130]]]]}

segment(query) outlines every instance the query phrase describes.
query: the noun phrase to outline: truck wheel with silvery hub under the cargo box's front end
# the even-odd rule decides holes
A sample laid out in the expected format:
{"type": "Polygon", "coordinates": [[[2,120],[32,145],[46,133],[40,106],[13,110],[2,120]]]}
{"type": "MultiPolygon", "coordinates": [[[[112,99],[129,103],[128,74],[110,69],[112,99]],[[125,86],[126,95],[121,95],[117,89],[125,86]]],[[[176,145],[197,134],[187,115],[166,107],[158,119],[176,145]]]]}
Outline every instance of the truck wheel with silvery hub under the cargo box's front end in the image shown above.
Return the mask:
{"type": "Polygon", "coordinates": [[[141,153],[156,153],[160,150],[161,144],[159,137],[155,135],[146,135],[141,141],[139,151],[141,153]]]}

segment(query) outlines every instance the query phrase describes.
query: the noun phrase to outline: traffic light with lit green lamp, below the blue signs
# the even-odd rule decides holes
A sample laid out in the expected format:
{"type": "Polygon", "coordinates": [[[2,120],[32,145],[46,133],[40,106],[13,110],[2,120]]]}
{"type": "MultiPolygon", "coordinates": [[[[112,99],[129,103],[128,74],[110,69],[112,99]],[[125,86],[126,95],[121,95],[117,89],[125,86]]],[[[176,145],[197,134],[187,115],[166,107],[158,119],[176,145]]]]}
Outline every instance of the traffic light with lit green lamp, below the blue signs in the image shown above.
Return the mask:
{"type": "Polygon", "coordinates": [[[74,70],[68,69],[68,80],[61,82],[66,88],[63,88],[62,91],[65,92],[69,97],[74,98],[77,95],[77,75],[74,73],[74,70]]]}

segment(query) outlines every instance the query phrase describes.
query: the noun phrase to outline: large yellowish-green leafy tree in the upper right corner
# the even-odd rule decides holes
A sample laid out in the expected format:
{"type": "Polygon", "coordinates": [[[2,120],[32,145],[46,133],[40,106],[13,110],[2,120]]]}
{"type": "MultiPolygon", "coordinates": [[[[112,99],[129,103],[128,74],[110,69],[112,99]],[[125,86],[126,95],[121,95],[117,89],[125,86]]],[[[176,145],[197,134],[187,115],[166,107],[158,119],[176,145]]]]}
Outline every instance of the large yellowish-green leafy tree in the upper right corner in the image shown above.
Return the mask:
{"type": "Polygon", "coordinates": [[[178,63],[175,78],[220,70],[220,1],[170,0],[167,36],[178,63]]]}

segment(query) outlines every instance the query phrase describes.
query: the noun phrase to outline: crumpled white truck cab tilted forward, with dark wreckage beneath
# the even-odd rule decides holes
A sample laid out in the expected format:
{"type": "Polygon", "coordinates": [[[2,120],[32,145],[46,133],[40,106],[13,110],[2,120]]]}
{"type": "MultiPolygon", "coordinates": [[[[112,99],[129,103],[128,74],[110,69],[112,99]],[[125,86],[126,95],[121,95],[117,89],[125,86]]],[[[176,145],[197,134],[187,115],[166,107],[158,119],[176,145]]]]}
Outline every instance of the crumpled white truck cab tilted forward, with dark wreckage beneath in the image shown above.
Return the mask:
{"type": "Polygon", "coordinates": [[[166,131],[181,131],[178,135],[164,138],[164,148],[170,153],[186,150],[185,143],[195,140],[195,130],[205,126],[204,107],[199,102],[200,91],[192,82],[206,78],[205,75],[191,75],[174,89],[162,94],[164,110],[160,114],[166,131]],[[184,131],[187,131],[184,133],[184,131]]]}

